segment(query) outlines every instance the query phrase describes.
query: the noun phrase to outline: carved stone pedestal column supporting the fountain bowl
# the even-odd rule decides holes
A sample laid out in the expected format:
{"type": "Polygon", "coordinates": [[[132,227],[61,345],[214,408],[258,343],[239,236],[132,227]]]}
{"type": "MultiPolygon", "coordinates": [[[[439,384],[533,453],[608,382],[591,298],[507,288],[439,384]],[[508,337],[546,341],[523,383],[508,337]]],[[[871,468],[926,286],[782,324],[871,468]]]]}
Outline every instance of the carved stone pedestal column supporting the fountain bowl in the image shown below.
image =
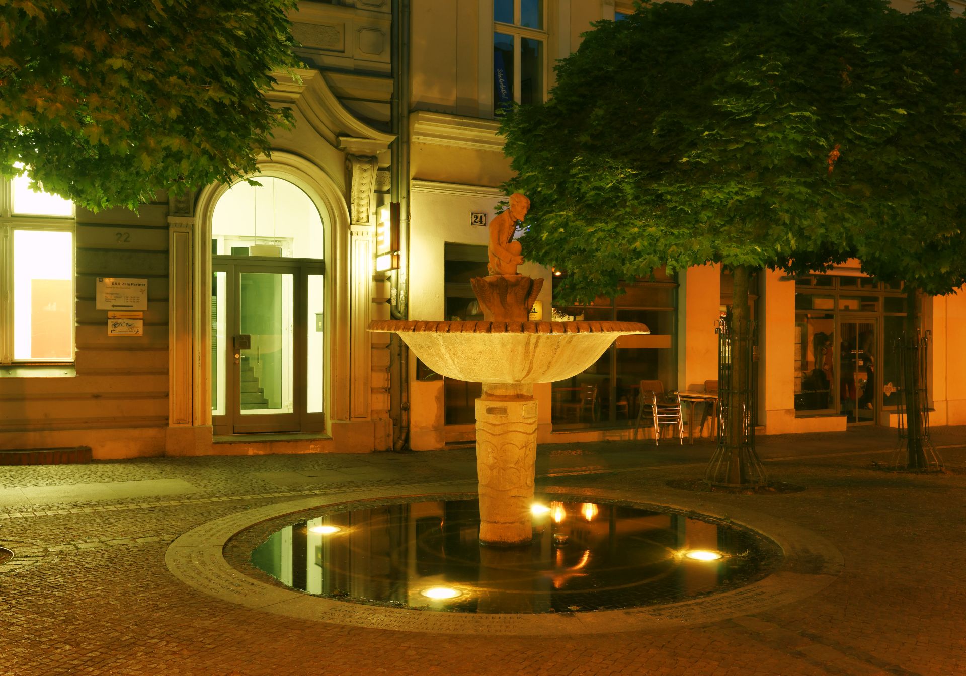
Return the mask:
{"type": "Polygon", "coordinates": [[[497,547],[532,539],[537,403],[532,384],[483,383],[476,400],[480,542],[497,547]]]}

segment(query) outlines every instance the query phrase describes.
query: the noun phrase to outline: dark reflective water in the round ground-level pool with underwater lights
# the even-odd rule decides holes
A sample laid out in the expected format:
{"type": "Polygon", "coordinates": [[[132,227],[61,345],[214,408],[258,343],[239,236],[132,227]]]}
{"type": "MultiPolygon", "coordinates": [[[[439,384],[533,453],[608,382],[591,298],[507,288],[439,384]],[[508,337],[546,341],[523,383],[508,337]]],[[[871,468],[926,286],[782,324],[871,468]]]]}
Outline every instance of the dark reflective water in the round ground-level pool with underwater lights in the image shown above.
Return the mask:
{"type": "Polygon", "coordinates": [[[286,526],[251,561],[310,594],[537,613],[681,601],[764,577],[778,560],[774,545],[752,533],[616,505],[553,502],[534,516],[530,547],[480,547],[478,535],[476,500],[385,505],[286,526]],[[683,555],[695,549],[724,556],[683,555]]]}

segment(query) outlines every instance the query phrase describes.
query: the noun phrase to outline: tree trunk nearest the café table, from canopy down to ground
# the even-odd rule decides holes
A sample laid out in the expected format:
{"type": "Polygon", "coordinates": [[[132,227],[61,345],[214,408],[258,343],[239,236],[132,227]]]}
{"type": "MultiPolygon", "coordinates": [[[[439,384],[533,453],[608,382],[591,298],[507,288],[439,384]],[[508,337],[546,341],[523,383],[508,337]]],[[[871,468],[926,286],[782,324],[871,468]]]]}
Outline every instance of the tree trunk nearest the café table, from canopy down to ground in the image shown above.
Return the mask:
{"type": "Polygon", "coordinates": [[[747,266],[733,268],[734,291],[731,322],[721,351],[721,406],[725,424],[720,430],[718,449],[711,458],[707,481],[714,486],[763,486],[764,468],[754,451],[752,396],[752,322],[748,304],[752,271],[747,266]],[[726,343],[725,343],[726,341],[726,343]],[[726,379],[725,379],[726,375],[726,379]]]}

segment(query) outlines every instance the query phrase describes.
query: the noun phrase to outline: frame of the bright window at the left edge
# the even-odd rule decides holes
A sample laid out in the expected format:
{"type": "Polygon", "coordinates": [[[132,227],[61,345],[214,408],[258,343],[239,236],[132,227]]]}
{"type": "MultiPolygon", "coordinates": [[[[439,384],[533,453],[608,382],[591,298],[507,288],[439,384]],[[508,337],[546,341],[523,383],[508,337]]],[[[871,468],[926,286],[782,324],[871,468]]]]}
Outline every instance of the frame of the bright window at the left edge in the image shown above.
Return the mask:
{"type": "Polygon", "coordinates": [[[70,216],[14,214],[14,182],[0,179],[0,366],[73,363],[77,334],[77,221],[70,216]],[[14,230],[69,232],[71,256],[71,355],[69,359],[14,359],[14,230]]]}

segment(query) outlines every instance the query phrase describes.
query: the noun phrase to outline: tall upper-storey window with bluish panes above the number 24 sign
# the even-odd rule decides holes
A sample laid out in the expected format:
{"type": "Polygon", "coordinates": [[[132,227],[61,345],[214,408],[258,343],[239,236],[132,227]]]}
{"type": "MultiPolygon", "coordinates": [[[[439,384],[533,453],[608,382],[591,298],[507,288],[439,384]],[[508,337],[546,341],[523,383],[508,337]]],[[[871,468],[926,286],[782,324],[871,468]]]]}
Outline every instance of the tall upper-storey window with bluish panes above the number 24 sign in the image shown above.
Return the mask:
{"type": "Polygon", "coordinates": [[[543,0],[494,0],[494,109],[544,99],[544,46],[547,32],[543,0]]]}

